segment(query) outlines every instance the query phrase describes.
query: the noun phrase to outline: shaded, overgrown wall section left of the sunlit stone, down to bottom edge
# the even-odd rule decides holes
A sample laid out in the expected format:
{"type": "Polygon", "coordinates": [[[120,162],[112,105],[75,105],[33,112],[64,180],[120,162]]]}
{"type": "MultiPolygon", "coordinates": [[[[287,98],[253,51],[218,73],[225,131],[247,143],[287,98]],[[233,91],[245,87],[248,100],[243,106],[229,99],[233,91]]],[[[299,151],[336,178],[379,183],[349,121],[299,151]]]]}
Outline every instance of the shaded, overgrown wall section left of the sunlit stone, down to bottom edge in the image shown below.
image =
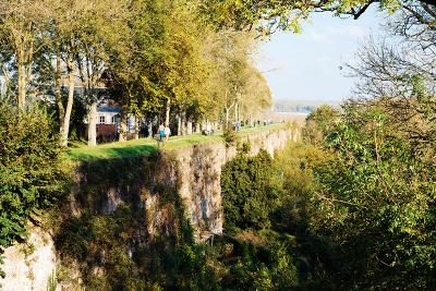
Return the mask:
{"type": "Polygon", "coordinates": [[[70,289],[213,289],[179,193],[174,156],[84,162],[58,213],[58,279],[70,289]]]}

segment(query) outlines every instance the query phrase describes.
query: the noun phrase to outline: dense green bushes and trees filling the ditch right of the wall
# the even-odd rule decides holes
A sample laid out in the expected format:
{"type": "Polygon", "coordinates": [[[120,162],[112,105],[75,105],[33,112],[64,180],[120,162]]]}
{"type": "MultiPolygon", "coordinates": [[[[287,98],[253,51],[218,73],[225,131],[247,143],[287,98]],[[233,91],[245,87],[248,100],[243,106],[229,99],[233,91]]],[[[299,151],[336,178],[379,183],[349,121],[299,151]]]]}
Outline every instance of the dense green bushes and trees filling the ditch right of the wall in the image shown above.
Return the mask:
{"type": "Polygon", "coordinates": [[[434,100],[401,102],[322,107],[304,143],[225,167],[226,243],[266,250],[225,260],[238,289],[435,289],[434,100]]]}

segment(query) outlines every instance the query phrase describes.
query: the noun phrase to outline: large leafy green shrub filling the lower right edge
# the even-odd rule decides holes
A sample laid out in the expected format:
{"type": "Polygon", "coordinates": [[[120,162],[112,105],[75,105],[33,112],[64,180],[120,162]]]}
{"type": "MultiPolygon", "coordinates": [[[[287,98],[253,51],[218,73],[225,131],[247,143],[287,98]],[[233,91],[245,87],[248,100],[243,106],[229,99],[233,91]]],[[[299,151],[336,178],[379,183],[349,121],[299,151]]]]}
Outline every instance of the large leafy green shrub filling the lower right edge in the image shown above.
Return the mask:
{"type": "Polygon", "coordinates": [[[337,270],[344,288],[435,287],[434,98],[411,102],[412,119],[386,100],[344,107],[328,136],[332,156],[316,167],[322,229],[347,262],[337,270]]]}

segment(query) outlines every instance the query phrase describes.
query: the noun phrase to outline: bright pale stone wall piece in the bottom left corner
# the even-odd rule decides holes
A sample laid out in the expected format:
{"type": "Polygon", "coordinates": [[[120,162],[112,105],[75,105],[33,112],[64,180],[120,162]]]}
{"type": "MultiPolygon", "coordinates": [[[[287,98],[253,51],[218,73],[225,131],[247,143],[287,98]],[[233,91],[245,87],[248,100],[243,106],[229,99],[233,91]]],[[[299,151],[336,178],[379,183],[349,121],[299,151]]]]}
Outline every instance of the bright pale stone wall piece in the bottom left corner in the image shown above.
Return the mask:
{"type": "Polygon", "coordinates": [[[51,235],[38,227],[29,227],[28,239],[4,250],[5,272],[0,289],[8,291],[46,291],[56,278],[56,250],[51,235]]]}

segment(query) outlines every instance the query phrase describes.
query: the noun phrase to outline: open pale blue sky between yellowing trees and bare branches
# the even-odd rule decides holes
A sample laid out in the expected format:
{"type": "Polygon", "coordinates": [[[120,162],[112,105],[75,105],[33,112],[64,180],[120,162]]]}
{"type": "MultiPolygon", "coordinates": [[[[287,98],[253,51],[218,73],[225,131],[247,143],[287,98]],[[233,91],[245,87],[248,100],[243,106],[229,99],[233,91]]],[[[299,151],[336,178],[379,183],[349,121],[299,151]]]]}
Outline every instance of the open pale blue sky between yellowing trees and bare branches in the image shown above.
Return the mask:
{"type": "Polygon", "coordinates": [[[344,75],[344,63],[371,34],[384,34],[383,19],[374,8],[356,21],[316,13],[303,24],[302,34],[281,32],[263,41],[257,66],[272,99],[336,102],[350,96],[354,80],[344,75]]]}

